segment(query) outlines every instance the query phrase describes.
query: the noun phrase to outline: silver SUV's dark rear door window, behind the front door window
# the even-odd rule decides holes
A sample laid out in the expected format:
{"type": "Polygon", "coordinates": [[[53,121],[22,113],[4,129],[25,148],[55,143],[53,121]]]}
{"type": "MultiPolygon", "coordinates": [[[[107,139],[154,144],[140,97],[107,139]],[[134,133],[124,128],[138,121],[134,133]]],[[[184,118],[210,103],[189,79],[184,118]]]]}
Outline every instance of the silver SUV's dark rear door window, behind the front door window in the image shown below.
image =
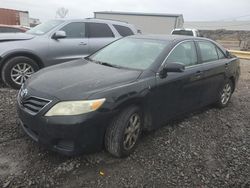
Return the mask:
{"type": "Polygon", "coordinates": [[[88,23],[88,36],[89,38],[109,38],[114,37],[114,34],[107,24],[88,23]]]}

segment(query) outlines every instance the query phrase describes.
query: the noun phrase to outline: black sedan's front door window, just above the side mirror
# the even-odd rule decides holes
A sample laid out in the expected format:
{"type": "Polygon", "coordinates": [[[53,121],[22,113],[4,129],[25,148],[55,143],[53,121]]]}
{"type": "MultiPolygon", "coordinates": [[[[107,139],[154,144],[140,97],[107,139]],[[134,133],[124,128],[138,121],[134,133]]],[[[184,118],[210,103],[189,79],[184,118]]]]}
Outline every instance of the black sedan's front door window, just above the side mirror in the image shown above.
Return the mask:
{"type": "Polygon", "coordinates": [[[170,53],[167,63],[183,63],[186,67],[198,63],[196,47],[194,42],[182,42],[170,53]]]}

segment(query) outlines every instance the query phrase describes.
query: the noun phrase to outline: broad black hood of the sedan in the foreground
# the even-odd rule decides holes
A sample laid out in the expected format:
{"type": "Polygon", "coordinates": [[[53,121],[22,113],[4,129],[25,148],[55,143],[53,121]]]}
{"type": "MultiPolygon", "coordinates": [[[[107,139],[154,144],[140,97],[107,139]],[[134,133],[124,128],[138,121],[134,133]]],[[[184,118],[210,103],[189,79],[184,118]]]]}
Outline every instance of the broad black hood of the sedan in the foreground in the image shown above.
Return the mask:
{"type": "Polygon", "coordinates": [[[104,89],[133,82],[141,72],[108,67],[82,59],[40,70],[28,80],[27,88],[44,97],[79,100],[104,89]]]}

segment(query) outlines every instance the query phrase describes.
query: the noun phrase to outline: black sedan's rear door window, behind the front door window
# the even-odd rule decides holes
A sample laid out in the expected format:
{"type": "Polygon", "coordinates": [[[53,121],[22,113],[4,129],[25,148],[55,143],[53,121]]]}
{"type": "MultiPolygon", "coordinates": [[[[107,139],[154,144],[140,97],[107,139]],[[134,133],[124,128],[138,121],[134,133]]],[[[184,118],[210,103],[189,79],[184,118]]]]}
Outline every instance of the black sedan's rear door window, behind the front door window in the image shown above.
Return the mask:
{"type": "Polygon", "coordinates": [[[218,60],[216,47],[209,41],[198,41],[198,46],[201,52],[202,62],[210,62],[218,60]]]}

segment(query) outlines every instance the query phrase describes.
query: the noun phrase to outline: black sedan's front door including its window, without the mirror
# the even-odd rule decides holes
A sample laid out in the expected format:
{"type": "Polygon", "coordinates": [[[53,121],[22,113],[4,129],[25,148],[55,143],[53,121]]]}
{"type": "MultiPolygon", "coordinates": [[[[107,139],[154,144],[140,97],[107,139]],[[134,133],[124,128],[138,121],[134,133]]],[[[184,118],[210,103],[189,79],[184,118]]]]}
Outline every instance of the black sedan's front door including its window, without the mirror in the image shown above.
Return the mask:
{"type": "Polygon", "coordinates": [[[170,52],[165,64],[179,62],[185,65],[181,73],[168,73],[166,78],[156,77],[155,94],[156,119],[161,121],[177,114],[191,111],[200,104],[202,88],[202,66],[198,64],[197,50],[194,41],[179,43],[170,52]]]}

